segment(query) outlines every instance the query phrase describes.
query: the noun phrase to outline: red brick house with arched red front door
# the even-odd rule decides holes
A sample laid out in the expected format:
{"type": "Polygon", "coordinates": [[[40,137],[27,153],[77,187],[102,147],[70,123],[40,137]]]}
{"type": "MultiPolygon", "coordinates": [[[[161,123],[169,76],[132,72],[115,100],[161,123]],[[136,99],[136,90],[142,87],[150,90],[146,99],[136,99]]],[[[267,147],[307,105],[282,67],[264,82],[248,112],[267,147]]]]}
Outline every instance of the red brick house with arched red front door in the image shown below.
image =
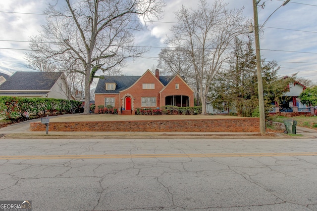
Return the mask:
{"type": "Polygon", "coordinates": [[[165,105],[194,106],[194,91],[179,75],[159,76],[159,70],[155,75],[147,70],[142,76],[104,76],[95,90],[95,105],[96,111],[99,105],[111,105],[119,114],[165,105]]]}

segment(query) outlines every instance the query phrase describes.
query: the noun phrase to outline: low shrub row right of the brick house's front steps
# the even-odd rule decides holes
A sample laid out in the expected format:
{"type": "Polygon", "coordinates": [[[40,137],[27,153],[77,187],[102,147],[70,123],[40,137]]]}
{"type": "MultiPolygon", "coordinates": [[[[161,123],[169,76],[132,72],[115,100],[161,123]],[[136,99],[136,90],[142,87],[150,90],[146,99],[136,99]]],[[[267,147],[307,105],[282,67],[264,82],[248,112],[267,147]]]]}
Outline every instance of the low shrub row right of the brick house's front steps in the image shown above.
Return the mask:
{"type": "Polygon", "coordinates": [[[178,107],[178,106],[163,106],[161,109],[152,108],[137,108],[136,115],[194,115],[201,114],[202,107],[178,107]]]}

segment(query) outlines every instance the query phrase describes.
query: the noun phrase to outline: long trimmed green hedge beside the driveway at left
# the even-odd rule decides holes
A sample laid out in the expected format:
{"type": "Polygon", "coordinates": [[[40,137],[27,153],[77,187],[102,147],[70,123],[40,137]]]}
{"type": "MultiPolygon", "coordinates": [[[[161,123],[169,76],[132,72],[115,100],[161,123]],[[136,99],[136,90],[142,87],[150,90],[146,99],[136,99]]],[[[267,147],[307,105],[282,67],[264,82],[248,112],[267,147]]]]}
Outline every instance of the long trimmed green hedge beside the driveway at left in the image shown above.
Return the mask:
{"type": "Polygon", "coordinates": [[[48,112],[78,113],[81,102],[53,98],[0,97],[0,117],[3,119],[27,118],[26,116],[45,116],[48,112]]]}

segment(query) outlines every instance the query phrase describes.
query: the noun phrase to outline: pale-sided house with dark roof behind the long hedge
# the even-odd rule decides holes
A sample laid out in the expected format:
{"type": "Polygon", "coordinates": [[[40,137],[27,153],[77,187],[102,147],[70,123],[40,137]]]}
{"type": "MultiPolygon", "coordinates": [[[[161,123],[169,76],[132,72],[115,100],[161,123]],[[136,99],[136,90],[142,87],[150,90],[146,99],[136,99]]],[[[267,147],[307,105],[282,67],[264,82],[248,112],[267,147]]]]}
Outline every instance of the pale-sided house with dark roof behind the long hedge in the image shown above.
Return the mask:
{"type": "Polygon", "coordinates": [[[0,85],[0,96],[71,99],[62,72],[16,72],[0,85]]]}

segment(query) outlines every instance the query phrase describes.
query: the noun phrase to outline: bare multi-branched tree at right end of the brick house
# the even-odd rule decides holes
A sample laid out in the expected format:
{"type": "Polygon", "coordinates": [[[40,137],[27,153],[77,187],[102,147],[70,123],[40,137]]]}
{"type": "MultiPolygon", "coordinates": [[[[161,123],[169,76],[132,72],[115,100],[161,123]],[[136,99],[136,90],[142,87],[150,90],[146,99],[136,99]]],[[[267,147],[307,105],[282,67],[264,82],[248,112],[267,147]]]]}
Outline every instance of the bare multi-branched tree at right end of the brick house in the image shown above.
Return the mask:
{"type": "Polygon", "coordinates": [[[172,27],[173,36],[167,43],[186,50],[199,84],[202,114],[206,114],[211,83],[230,58],[234,38],[247,27],[242,9],[228,10],[221,0],[215,0],[212,6],[206,0],[199,2],[196,10],[182,6],[175,13],[179,23],[172,27]]]}

